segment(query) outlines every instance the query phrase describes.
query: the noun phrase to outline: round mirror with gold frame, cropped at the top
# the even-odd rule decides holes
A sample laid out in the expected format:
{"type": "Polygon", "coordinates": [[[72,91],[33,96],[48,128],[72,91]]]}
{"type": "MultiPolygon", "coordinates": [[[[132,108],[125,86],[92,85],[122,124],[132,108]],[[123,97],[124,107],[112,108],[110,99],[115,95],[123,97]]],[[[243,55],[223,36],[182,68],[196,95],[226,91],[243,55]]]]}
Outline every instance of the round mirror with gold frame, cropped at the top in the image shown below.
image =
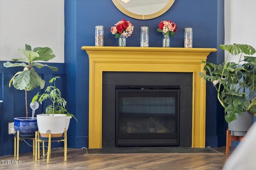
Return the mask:
{"type": "Polygon", "coordinates": [[[166,12],[175,0],[112,0],[116,8],[139,20],[156,18],[166,12]]]}

